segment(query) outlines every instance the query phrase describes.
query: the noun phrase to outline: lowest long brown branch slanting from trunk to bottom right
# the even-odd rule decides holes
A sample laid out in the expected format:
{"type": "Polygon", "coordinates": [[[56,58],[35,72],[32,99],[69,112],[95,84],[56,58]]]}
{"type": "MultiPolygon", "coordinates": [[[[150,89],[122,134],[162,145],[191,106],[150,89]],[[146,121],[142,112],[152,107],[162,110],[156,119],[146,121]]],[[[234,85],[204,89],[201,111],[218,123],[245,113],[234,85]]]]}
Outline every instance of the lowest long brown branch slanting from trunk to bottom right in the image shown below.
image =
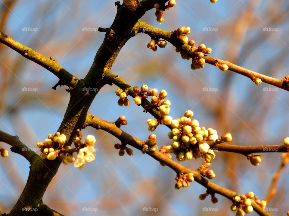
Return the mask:
{"type": "MultiPolygon", "coordinates": [[[[95,116],[92,116],[90,114],[87,115],[85,126],[91,126],[93,128],[96,128],[97,130],[101,129],[104,131],[107,131],[108,133],[112,134],[114,137],[118,138],[123,143],[129,144],[136,149],[141,150],[142,145],[145,143],[142,140],[139,140],[126,132],[122,131],[120,128],[118,128],[115,124],[101,120],[96,118],[95,116]]],[[[207,189],[221,194],[222,196],[227,197],[228,199],[232,200],[234,196],[239,195],[235,191],[228,190],[227,188],[221,187],[217,184],[214,184],[213,182],[208,181],[204,177],[200,175],[200,173],[197,170],[191,170],[187,167],[182,166],[181,164],[177,163],[176,161],[173,161],[172,159],[167,158],[162,152],[156,151],[156,152],[147,152],[148,155],[156,159],[157,161],[162,162],[163,164],[166,164],[168,167],[172,168],[176,173],[194,173],[194,179],[196,182],[200,183],[207,189]]],[[[264,216],[270,216],[269,212],[264,211],[256,202],[252,199],[252,207],[259,215],[264,216]]]]}

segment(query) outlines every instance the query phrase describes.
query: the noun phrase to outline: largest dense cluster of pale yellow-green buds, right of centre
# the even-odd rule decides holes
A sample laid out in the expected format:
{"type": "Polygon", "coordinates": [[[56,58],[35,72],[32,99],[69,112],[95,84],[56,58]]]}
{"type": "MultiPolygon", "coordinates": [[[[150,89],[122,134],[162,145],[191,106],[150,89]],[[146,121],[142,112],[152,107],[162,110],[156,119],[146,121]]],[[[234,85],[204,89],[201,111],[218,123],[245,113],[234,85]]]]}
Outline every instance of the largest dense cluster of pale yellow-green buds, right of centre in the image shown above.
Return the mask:
{"type": "Polygon", "coordinates": [[[162,124],[172,127],[168,137],[174,141],[166,146],[166,152],[174,153],[177,161],[203,157],[206,163],[211,163],[216,155],[207,142],[230,142],[232,135],[227,133],[219,139],[216,130],[200,127],[196,119],[191,119],[193,115],[193,111],[188,110],[180,119],[172,120],[171,116],[162,119],[162,124]]]}

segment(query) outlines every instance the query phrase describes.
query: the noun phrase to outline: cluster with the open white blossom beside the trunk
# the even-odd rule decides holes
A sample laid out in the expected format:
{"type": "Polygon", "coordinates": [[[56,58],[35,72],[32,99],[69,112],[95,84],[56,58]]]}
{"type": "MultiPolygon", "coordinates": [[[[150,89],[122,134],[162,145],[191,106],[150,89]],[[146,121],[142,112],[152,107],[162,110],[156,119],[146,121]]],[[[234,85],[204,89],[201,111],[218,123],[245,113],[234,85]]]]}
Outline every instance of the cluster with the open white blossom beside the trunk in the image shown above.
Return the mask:
{"type": "Polygon", "coordinates": [[[87,135],[85,138],[85,143],[82,144],[81,140],[82,134],[80,130],[77,130],[76,137],[73,139],[73,143],[77,148],[77,157],[74,162],[74,167],[78,167],[79,170],[85,165],[86,162],[92,162],[95,160],[95,148],[94,144],[96,142],[95,137],[92,135],[87,135]],[[78,138],[77,138],[78,137],[78,138]]]}

